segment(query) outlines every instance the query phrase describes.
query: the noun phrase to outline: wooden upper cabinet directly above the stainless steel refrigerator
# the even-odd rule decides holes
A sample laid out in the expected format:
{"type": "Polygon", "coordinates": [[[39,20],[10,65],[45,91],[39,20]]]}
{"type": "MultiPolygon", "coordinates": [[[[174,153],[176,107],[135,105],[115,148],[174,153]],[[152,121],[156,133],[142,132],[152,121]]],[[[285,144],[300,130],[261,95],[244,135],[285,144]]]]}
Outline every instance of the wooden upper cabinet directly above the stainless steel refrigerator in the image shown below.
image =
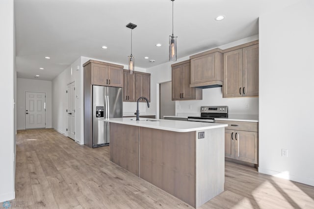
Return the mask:
{"type": "Polygon", "coordinates": [[[91,79],[91,84],[123,87],[123,66],[96,60],[83,64],[84,77],[91,79]]]}

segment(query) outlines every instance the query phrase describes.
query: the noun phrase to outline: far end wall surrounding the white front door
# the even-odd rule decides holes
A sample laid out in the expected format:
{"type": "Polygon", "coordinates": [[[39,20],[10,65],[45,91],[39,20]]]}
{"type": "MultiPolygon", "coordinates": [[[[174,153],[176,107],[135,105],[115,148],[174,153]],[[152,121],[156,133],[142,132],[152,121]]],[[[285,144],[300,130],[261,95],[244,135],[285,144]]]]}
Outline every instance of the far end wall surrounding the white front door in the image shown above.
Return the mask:
{"type": "Polygon", "coordinates": [[[17,78],[17,130],[25,129],[25,92],[46,93],[46,128],[52,128],[52,82],[50,80],[17,78]]]}

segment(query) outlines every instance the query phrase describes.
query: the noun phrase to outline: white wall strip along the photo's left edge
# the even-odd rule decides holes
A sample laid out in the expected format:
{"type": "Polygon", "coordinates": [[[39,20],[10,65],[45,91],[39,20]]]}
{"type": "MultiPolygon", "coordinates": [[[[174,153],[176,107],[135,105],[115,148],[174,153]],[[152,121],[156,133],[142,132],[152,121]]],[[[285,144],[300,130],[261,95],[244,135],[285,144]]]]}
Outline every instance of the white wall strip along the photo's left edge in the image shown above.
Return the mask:
{"type": "Polygon", "coordinates": [[[14,2],[0,1],[0,202],[15,198],[14,190],[14,2]]]}

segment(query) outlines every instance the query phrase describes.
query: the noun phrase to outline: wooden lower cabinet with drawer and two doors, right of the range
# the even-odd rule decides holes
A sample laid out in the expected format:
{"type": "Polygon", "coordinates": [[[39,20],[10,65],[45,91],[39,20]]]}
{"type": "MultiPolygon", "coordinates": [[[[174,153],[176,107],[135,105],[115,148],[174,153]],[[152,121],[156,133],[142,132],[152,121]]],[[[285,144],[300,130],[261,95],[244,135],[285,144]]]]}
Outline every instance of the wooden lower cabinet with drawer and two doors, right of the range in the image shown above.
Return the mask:
{"type": "Polygon", "coordinates": [[[217,121],[228,124],[225,128],[225,157],[258,164],[258,123],[217,121]]]}

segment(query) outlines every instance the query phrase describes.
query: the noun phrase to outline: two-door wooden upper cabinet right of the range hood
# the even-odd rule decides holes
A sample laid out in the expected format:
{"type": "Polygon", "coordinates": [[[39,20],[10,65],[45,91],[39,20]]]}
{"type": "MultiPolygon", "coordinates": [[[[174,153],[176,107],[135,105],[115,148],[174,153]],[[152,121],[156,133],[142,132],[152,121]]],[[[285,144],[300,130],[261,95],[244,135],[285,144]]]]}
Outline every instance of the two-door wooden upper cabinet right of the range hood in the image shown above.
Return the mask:
{"type": "Polygon", "coordinates": [[[225,51],[223,97],[259,96],[258,41],[225,51]]]}

